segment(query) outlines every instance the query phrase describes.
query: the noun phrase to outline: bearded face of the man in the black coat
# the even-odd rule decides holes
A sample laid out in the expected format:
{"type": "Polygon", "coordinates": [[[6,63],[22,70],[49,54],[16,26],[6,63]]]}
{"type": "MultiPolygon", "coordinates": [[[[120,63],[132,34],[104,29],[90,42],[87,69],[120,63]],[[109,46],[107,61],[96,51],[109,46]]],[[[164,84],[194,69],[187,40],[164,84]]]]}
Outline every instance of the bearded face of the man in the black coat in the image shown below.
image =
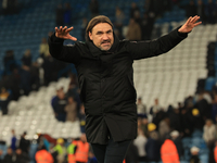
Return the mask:
{"type": "Polygon", "coordinates": [[[89,32],[90,40],[101,50],[107,51],[114,43],[112,26],[107,23],[99,23],[89,32]]]}

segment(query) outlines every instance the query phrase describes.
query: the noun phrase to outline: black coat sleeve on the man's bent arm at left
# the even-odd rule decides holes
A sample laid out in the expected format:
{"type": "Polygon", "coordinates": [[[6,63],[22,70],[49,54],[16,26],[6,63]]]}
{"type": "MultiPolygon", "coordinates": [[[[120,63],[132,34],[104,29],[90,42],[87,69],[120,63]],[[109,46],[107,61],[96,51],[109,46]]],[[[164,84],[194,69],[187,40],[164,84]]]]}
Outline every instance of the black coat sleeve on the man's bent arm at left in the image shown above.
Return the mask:
{"type": "Polygon", "coordinates": [[[55,33],[48,38],[50,54],[56,60],[69,63],[78,63],[80,54],[77,43],[74,46],[63,46],[64,39],[55,37],[55,33]]]}

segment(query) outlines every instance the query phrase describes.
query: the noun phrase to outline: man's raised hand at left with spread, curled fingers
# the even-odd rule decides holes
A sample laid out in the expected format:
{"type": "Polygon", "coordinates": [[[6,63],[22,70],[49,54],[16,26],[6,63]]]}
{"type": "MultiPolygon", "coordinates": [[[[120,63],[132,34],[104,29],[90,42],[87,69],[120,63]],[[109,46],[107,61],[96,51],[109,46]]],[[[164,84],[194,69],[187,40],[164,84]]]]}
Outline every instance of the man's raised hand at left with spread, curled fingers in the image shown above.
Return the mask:
{"type": "Polygon", "coordinates": [[[63,39],[71,39],[76,41],[77,38],[73,37],[69,32],[73,30],[73,27],[67,28],[67,26],[65,26],[64,28],[62,26],[60,26],[60,29],[58,27],[55,27],[55,37],[58,38],[63,38],[63,39]]]}

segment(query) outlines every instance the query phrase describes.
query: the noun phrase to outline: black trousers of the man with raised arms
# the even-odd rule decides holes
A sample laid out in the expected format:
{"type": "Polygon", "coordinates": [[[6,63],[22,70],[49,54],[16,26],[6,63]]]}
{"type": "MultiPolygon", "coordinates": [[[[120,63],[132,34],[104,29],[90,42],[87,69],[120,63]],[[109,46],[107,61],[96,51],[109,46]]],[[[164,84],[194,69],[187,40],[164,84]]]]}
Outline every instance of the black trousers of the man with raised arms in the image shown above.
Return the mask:
{"type": "Polygon", "coordinates": [[[114,142],[110,138],[107,145],[91,143],[91,147],[99,163],[123,163],[131,141],[114,142]]]}

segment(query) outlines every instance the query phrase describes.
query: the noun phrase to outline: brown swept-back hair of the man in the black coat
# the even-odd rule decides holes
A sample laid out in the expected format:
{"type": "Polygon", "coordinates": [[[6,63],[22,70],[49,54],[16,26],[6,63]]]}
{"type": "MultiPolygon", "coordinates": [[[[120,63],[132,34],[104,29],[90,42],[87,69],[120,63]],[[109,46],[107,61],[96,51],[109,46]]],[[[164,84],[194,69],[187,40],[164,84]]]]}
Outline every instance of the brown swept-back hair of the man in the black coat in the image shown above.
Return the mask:
{"type": "Polygon", "coordinates": [[[90,40],[89,32],[92,33],[92,28],[99,23],[107,23],[112,26],[112,28],[114,27],[114,25],[112,24],[111,20],[107,16],[104,15],[95,16],[88,23],[88,26],[86,28],[86,40],[90,40]]]}

